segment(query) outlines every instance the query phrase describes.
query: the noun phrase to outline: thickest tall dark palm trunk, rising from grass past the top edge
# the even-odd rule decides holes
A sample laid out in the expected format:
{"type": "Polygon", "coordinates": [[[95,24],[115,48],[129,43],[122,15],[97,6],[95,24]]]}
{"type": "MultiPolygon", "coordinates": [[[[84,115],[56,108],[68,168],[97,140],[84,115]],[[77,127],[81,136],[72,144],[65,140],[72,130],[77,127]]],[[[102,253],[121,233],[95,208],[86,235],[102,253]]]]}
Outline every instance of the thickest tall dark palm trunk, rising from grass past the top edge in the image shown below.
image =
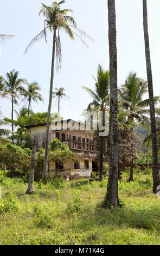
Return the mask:
{"type": "Polygon", "coordinates": [[[108,38],[110,46],[110,168],[106,199],[118,205],[118,96],[115,0],[108,0],[108,38]]]}

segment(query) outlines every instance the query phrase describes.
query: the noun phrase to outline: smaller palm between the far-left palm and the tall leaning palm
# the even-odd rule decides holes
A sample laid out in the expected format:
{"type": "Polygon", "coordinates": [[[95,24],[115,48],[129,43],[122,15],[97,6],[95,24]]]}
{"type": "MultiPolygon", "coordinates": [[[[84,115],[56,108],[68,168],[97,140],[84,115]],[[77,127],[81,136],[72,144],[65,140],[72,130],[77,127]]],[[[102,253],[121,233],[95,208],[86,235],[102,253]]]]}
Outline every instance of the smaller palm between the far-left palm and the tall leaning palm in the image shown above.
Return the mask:
{"type": "Polygon", "coordinates": [[[24,97],[28,101],[28,115],[29,115],[31,101],[35,101],[35,102],[39,100],[43,101],[43,97],[39,92],[37,92],[38,90],[41,90],[41,87],[39,86],[39,84],[37,84],[36,82],[28,83],[27,80],[26,80],[26,84],[27,84],[27,90],[25,90],[24,92],[24,97]]]}

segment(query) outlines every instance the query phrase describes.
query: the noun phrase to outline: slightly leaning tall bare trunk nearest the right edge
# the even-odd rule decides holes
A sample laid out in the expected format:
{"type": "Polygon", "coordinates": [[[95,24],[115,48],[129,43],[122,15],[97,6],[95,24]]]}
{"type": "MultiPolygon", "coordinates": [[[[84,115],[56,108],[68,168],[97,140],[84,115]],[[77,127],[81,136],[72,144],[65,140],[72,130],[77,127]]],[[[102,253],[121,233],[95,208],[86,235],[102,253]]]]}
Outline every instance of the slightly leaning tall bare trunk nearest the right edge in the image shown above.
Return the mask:
{"type": "Polygon", "coordinates": [[[153,193],[156,193],[156,188],[159,185],[159,170],[158,170],[155,104],[153,101],[153,82],[152,82],[150,44],[149,44],[149,33],[148,33],[148,10],[147,10],[146,0],[143,0],[143,26],[144,26],[145,57],[146,57],[146,70],[147,70],[147,76],[148,76],[149,104],[150,104],[150,117],[151,117],[153,193]]]}

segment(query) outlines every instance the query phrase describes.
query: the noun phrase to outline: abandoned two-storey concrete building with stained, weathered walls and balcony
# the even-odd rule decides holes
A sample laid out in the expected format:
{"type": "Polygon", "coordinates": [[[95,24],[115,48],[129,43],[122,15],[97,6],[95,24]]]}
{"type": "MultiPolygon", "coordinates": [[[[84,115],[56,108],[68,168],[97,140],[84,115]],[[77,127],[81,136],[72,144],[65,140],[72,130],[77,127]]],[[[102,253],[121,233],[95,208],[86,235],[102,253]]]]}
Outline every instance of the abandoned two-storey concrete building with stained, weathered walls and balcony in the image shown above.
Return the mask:
{"type": "MultiPolygon", "coordinates": [[[[45,147],[46,124],[26,126],[30,132],[30,142],[37,137],[36,150],[45,147]]],[[[58,176],[69,176],[69,179],[78,179],[80,176],[90,178],[92,171],[97,172],[99,162],[96,161],[96,141],[94,131],[86,130],[84,124],[72,119],[55,121],[49,125],[49,142],[59,139],[62,144],[67,144],[70,150],[79,156],[79,162],[65,162],[59,165],[52,162],[49,166],[49,173],[54,175],[59,169],[58,176]]]]}

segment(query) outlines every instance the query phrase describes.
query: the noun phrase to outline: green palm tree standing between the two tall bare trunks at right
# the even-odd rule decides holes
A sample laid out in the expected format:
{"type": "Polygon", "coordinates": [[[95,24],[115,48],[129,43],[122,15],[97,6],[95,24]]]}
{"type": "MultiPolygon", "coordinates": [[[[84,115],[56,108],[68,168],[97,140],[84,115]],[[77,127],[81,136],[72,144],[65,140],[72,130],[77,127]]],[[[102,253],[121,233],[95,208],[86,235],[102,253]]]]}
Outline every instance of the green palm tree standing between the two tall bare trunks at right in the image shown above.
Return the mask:
{"type": "MultiPolygon", "coordinates": [[[[150,123],[150,119],[146,116],[150,113],[149,109],[146,109],[146,107],[149,106],[149,100],[143,100],[143,96],[146,92],[148,92],[147,82],[142,78],[138,78],[136,73],[133,74],[132,72],[130,72],[129,76],[127,76],[122,89],[119,90],[121,107],[127,111],[127,123],[132,123],[132,135],[135,120],[138,123],[145,125],[147,128],[150,123]]],[[[157,103],[159,99],[160,98],[158,96],[155,97],[155,103],[157,103]]],[[[132,144],[132,148],[133,147],[134,145],[132,144]]],[[[133,158],[131,160],[129,181],[133,181],[133,158]]]]}

